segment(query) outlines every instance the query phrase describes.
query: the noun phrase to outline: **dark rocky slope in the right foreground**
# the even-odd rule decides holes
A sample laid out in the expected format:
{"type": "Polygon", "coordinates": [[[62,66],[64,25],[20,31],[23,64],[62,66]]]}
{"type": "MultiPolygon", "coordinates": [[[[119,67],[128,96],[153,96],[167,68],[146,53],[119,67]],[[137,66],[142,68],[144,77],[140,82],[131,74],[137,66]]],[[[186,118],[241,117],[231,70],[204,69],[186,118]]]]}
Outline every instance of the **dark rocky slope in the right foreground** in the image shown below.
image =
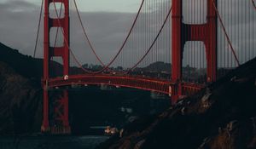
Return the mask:
{"type": "Polygon", "coordinates": [[[98,148],[256,148],[256,59],[98,148]]]}

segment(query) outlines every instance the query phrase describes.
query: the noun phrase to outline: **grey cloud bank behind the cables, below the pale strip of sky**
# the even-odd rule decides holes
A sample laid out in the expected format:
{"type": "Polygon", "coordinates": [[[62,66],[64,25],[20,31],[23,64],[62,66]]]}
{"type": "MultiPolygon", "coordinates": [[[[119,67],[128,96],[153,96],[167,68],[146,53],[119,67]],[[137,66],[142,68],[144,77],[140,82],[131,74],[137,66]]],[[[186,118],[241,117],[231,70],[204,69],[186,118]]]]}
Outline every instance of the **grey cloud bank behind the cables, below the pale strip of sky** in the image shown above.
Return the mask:
{"type": "MultiPolygon", "coordinates": [[[[221,6],[224,3],[227,5],[228,1],[231,2],[230,0],[220,0],[218,5],[221,6]]],[[[236,45],[236,48],[239,48],[236,50],[241,53],[242,50],[247,49],[252,53],[247,56],[252,58],[256,54],[256,28],[253,27],[256,26],[256,13],[255,11],[253,13],[253,8],[250,8],[250,2],[241,2],[241,0],[233,0],[233,2],[233,4],[229,5],[233,10],[219,7],[219,12],[224,18],[224,24],[232,43],[236,45]],[[237,8],[237,5],[240,6],[240,9],[237,8]],[[238,31],[240,27],[241,30],[238,31]]],[[[168,1],[166,1],[166,3],[158,3],[157,6],[160,9],[154,9],[148,4],[143,7],[143,14],[139,16],[134,32],[132,32],[124,52],[120,54],[120,57],[114,65],[132,66],[145,54],[150,43],[153,42],[154,37],[159,31],[166,17],[166,12],[170,9],[168,1]],[[124,54],[128,56],[125,57],[124,54]]],[[[196,9],[191,9],[191,6],[186,7],[187,10],[184,12],[191,13],[196,11],[196,9]],[[191,10],[189,10],[189,8],[191,10]]],[[[12,0],[0,3],[0,42],[12,48],[19,49],[22,54],[32,54],[37,33],[39,9],[38,5],[26,1],[12,0]]],[[[201,11],[203,12],[204,10],[201,11]]],[[[88,44],[84,42],[85,38],[82,28],[79,25],[79,19],[73,10],[71,10],[70,16],[71,48],[73,49],[73,53],[82,63],[98,63],[95,56],[91,53],[88,44]]],[[[109,60],[113,58],[113,55],[118,52],[135,16],[136,14],[134,13],[118,12],[81,13],[85,29],[96,48],[97,54],[99,54],[104,63],[108,63],[109,60]]],[[[148,60],[164,60],[171,62],[171,39],[169,39],[171,24],[170,21],[167,23],[164,31],[161,33],[160,41],[154,45],[154,49],[148,54],[146,60],[143,61],[143,65],[148,65],[148,60]]],[[[218,33],[220,40],[218,50],[223,54],[230,53],[227,52],[229,49],[224,49],[227,47],[227,42],[224,39],[223,32],[219,30],[218,33]]],[[[51,43],[53,43],[53,41],[51,41],[51,43]]],[[[61,42],[59,41],[58,44],[61,44],[61,42]]],[[[201,45],[199,46],[201,47],[201,45]]],[[[187,53],[186,56],[188,54],[189,53],[187,53]]],[[[42,57],[42,55],[43,24],[40,30],[37,56],[42,57]]],[[[71,62],[74,63],[73,60],[71,60],[71,62]]],[[[185,60],[184,63],[187,64],[189,61],[185,60]]]]}

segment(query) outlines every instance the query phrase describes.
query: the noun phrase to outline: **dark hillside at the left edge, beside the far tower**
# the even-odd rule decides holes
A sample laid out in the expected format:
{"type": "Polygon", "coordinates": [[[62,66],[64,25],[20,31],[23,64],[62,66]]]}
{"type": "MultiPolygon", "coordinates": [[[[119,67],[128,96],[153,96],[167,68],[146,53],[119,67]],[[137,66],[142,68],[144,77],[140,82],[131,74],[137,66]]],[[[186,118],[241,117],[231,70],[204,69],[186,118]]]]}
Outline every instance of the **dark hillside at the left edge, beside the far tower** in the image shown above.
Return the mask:
{"type": "Polygon", "coordinates": [[[0,62],[0,134],[27,134],[41,123],[41,89],[0,62]]]}

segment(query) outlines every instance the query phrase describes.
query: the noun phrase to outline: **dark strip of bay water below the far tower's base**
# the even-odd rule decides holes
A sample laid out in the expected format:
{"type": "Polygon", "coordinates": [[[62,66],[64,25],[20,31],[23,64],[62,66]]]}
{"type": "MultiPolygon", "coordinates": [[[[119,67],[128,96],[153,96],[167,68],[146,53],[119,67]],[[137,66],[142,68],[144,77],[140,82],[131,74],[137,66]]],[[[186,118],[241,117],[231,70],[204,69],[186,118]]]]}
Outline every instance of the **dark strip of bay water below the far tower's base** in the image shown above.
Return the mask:
{"type": "Polygon", "coordinates": [[[94,149],[108,136],[6,136],[1,149],[94,149]]]}

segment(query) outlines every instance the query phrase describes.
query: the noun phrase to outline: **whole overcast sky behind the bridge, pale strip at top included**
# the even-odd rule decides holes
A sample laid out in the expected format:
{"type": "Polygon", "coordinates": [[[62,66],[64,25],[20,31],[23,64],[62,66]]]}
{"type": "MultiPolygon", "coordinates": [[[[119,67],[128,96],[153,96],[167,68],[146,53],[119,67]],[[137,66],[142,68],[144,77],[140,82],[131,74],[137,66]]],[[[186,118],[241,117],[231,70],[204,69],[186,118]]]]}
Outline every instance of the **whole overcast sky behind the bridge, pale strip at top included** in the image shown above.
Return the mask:
{"type": "MultiPolygon", "coordinates": [[[[169,3],[167,3],[167,6],[161,7],[162,3],[166,3],[166,1],[168,0],[146,0],[146,2],[151,3],[158,2],[159,7],[153,10],[152,6],[149,7],[148,3],[145,4],[146,6],[143,12],[148,13],[148,15],[144,14],[144,16],[140,17],[141,19],[144,18],[144,20],[148,20],[149,23],[138,24],[137,28],[139,28],[139,25],[143,26],[143,30],[147,33],[137,32],[137,37],[148,38],[148,35],[150,35],[151,37],[148,38],[148,41],[152,41],[152,38],[155,37],[165,19],[166,10],[169,9],[169,3]],[[154,14],[156,14],[154,16],[159,16],[157,14],[160,13],[157,13],[157,11],[164,12],[161,14],[162,18],[158,21],[154,21],[151,15],[150,19],[149,14],[152,14],[153,11],[154,14]]],[[[191,4],[188,3],[191,2],[190,0],[183,0],[183,2],[185,3],[183,5],[183,7],[185,7],[183,13],[187,13],[187,15],[184,16],[184,21],[190,22],[192,20],[189,20],[191,17],[189,17],[188,14],[196,13],[194,13],[193,10],[189,10],[191,8],[191,4]]],[[[0,42],[14,49],[19,49],[22,54],[32,55],[38,26],[40,3],[40,0],[0,0],[0,42]]],[[[107,63],[110,58],[116,54],[120,44],[129,31],[129,27],[131,27],[132,20],[136,15],[141,0],[77,0],[77,3],[80,11],[82,11],[82,20],[90,39],[94,43],[97,53],[102,57],[102,60],[107,63]]],[[[222,6],[225,4],[225,7],[227,7],[219,8],[220,14],[224,17],[224,24],[228,29],[228,33],[237,53],[248,49],[248,56],[255,56],[253,54],[256,54],[256,51],[252,51],[252,49],[256,49],[256,11],[253,13],[254,9],[250,0],[219,0],[218,4],[222,6]],[[236,31],[241,26],[243,26],[241,30],[245,33],[232,32],[232,30],[236,31]]],[[[198,6],[195,8],[198,8],[198,6]]],[[[89,53],[88,45],[84,43],[84,36],[81,26],[79,26],[78,17],[73,12],[74,6],[72,0],[70,1],[70,9],[71,47],[75,49],[75,54],[83,63],[89,63],[90,61],[93,63],[96,59],[92,58],[93,56],[89,53]],[[84,49],[87,50],[87,53],[86,51],[84,53],[84,49]]],[[[201,10],[201,12],[204,11],[206,11],[206,9],[201,10]]],[[[202,17],[205,18],[204,15],[202,15],[202,17]]],[[[169,28],[165,28],[165,34],[168,30],[169,28]]],[[[162,38],[165,37],[166,35],[162,36],[162,38]]],[[[220,38],[220,40],[224,39],[220,38]]],[[[143,45],[140,46],[143,47],[143,45]]],[[[227,43],[224,42],[219,43],[219,46],[229,47],[227,43]]],[[[37,57],[42,57],[42,47],[43,26],[41,26],[40,30],[37,57]]],[[[170,55],[165,53],[169,47],[170,44],[166,44],[165,46],[155,48],[163,49],[159,60],[170,55]]],[[[137,54],[137,57],[143,55],[144,52],[145,50],[137,54]]],[[[189,53],[185,54],[185,56],[188,54],[189,53]]],[[[152,53],[152,55],[154,55],[154,53],[152,53]]],[[[136,57],[134,59],[136,59],[136,57]]],[[[242,57],[240,59],[242,59],[242,57]]]]}

